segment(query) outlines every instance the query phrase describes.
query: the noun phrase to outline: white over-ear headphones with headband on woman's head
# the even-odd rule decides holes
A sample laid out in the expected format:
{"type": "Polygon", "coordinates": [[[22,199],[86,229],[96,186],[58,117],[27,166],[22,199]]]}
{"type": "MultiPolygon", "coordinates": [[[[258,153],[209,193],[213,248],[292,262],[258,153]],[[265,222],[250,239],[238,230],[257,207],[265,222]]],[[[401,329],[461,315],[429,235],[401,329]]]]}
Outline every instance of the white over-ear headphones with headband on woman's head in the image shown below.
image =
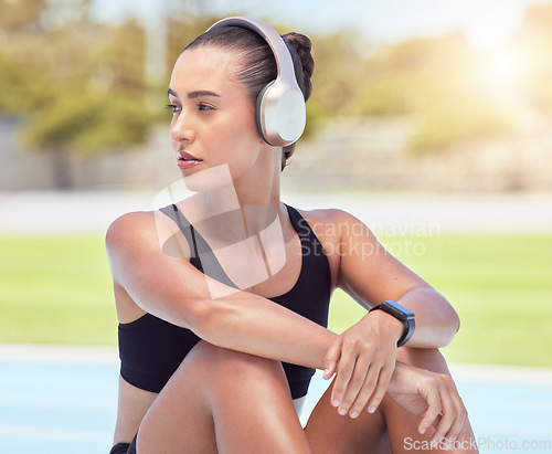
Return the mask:
{"type": "MultiPolygon", "coordinates": [[[[214,23],[219,27],[238,25],[257,32],[270,46],[276,59],[277,77],[258,94],[256,120],[261,137],[274,147],[296,141],[306,123],[305,97],[295,78],[291,54],[279,33],[266,22],[254,18],[226,18],[214,23]]],[[[208,30],[208,31],[209,31],[208,30]]]]}

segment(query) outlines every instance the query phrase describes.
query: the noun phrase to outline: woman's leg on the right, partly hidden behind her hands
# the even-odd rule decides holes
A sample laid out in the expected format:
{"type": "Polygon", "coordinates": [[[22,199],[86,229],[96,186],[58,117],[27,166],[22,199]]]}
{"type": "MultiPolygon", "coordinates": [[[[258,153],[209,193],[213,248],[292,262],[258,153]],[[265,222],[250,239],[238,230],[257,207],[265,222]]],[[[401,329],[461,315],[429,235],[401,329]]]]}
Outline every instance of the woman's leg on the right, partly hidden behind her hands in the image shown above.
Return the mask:
{"type": "MultiPolygon", "coordinates": [[[[397,359],[434,372],[449,373],[445,359],[436,349],[401,348],[397,359]]],[[[337,409],[330,403],[330,397],[331,386],[318,402],[305,427],[316,454],[390,452],[395,454],[416,451],[414,446],[429,446],[434,430],[428,429],[424,435],[420,434],[417,431],[420,418],[403,410],[388,395],[375,413],[370,414],[364,410],[354,420],[347,415],[339,415],[337,409]]],[[[466,421],[463,436],[466,441],[464,446],[470,447],[470,440],[474,440],[474,435],[468,421],[466,421]]],[[[431,452],[440,451],[432,450],[431,452]]],[[[454,453],[457,450],[446,452],[454,453]]],[[[477,452],[477,450],[468,448],[460,452],[466,454],[477,452]]]]}

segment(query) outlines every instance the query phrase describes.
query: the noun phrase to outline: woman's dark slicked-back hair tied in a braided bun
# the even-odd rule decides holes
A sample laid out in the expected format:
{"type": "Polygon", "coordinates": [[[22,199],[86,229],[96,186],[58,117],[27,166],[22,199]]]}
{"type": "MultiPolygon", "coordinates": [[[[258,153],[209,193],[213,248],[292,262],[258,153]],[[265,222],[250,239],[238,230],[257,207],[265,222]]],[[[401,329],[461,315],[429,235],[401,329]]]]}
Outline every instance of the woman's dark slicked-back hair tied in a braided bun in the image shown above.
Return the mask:
{"type": "MultiPolygon", "coordinates": [[[[301,33],[290,32],[283,38],[291,54],[295,77],[306,102],[312,92],[311,77],[315,70],[315,61],[310,53],[312,45],[308,36],[301,33]]],[[[263,87],[277,76],[273,51],[264,38],[253,30],[234,25],[215,28],[198,36],[184,51],[206,45],[240,53],[242,67],[237,71],[237,82],[245,86],[254,104],[263,87]]],[[[294,150],[295,144],[283,148],[282,170],[294,150]]]]}

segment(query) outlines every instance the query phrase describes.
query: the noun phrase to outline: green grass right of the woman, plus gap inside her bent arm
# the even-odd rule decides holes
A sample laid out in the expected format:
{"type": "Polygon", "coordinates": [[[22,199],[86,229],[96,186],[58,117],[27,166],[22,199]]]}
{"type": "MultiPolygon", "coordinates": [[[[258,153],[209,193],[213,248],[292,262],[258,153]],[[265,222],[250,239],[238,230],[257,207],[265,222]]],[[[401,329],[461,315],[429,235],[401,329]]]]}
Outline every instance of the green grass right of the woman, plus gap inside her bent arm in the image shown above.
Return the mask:
{"type": "MultiPolygon", "coordinates": [[[[423,236],[382,242],[403,251],[397,254],[402,262],[458,312],[460,330],[444,349],[448,360],[552,367],[552,236],[423,236]]],[[[362,312],[347,295],[336,296],[332,327],[342,330],[352,314],[358,319],[362,312]]]]}

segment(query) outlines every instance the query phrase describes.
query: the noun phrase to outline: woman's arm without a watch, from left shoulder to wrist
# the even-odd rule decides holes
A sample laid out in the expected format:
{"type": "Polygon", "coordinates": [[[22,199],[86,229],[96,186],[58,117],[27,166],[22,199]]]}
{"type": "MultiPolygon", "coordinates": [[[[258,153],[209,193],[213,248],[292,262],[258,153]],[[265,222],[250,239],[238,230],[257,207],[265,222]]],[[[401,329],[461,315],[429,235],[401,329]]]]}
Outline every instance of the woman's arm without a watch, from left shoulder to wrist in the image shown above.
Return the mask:
{"type": "Polygon", "coordinates": [[[163,253],[173,234],[162,214],[129,213],[106,236],[112,275],[144,310],[215,346],[322,369],[333,332],[269,299],[236,292],[163,253]],[[209,286],[208,286],[208,279],[209,286]],[[213,292],[213,289],[215,292],[213,292]],[[230,293],[213,299],[212,294],[230,293]]]}

